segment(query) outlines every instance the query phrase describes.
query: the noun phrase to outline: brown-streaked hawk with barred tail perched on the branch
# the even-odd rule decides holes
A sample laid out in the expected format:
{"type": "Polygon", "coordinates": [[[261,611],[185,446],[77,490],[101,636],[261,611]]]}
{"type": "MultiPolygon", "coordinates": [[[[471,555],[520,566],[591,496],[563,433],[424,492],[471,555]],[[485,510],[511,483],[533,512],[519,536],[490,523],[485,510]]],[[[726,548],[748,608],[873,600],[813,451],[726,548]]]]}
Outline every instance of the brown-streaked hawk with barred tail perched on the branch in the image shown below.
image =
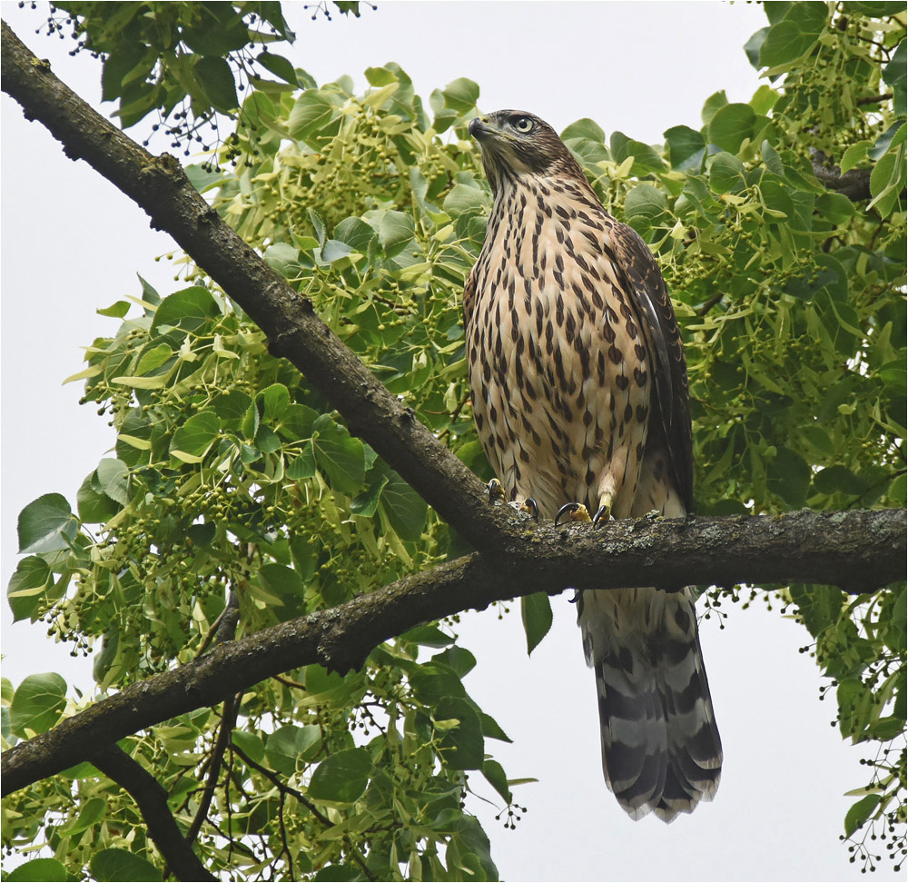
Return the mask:
{"type": "MultiPolygon", "coordinates": [[[[494,196],[463,297],[473,412],[500,480],[490,487],[548,517],[683,517],[684,348],[646,243],[538,116],[501,110],[469,133],[494,196]]],[[[671,821],[712,799],[722,747],[691,591],[585,590],[577,611],[618,803],[671,821]]]]}

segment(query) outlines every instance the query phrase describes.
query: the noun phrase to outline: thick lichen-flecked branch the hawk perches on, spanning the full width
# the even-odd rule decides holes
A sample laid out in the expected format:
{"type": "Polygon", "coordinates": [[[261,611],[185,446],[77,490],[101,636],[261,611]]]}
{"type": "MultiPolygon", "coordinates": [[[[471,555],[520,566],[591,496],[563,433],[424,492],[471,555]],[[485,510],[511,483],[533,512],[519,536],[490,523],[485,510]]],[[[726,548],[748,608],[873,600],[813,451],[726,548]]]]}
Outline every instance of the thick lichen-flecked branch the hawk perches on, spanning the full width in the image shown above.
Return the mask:
{"type": "Polygon", "coordinates": [[[363,595],[341,607],[221,644],[207,656],[127,687],[3,755],[4,794],[192,709],[313,662],[360,666],[383,640],[460,610],[536,591],[736,582],[819,582],[851,592],[902,579],[904,513],[814,512],[775,517],[612,521],[537,528],[509,521],[494,566],[478,554],[363,595]]]}

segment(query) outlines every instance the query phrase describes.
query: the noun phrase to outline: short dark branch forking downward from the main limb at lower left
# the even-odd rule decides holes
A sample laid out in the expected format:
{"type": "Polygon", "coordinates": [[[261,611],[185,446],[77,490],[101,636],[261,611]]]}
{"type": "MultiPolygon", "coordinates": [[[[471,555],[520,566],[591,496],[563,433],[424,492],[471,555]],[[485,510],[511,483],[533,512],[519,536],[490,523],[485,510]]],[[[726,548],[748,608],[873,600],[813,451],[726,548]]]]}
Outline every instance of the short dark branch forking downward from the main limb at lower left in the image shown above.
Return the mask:
{"type": "Polygon", "coordinates": [[[148,835],[159,849],[173,876],[180,880],[216,880],[192,847],[183,838],[161,783],[123,749],[108,745],[91,756],[91,762],[135,800],[148,828],[148,835]]]}

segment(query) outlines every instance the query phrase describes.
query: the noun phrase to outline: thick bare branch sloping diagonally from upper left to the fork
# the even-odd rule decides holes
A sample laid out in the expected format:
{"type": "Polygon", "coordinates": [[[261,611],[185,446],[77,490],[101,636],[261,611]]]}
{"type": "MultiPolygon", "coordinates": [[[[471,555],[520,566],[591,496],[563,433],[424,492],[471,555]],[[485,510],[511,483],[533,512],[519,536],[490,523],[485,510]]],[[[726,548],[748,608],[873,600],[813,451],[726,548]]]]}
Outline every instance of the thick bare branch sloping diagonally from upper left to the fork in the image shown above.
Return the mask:
{"type": "Polygon", "coordinates": [[[155,157],[135,144],[39,61],[5,22],[0,73],[3,89],[63,144],[138,203],[152,225],[183,250],[239,303],[289,359],[415,491],[479,550],[491,550],[503,521],[484,505],[476,476],[413,411],[376,380],[311,302],[296,293],[224,223],[168,154],[155,157]]]}

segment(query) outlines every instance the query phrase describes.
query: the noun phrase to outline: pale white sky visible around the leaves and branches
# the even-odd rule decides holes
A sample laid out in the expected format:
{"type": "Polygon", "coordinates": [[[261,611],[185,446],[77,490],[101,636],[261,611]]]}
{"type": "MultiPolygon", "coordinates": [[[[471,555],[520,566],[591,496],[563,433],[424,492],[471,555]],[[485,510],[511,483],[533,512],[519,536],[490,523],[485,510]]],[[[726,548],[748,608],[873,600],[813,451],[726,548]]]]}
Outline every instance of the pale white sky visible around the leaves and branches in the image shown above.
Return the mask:
{"type": "MultiPolygon", "coordinates": [[[[699,128],[703,101],[725,89],[746,101],[758,80],[741,46],[765,25],[762,8],[736,3],[402,3],[379,0],[359,20],[310,20],[287,6],[296,44],[281,48],[320,82],[397,61],[418,94],[458,76],[476,80],[483,110],[519,107],[561,129],[589,116],[657,143],[669,126],[699,128]]],[[[71,43],[34,31],[45,17],[4,2],[5,20],[56,74],[97,103],[100,68],[71,43]]],[[[110,113],[113,108],[107,108],[110,113]]],[[[170,267],[155,263],[173,243],[113,185],[72,163],[40,124],[26,123],[3,96],[3,585],[15,570],[17,513],[58,491],[74,502],[84,476],[113,443],[80,384],[61,381],[82,367],[79,349],[113,333],[94,313],[137,294],[142,273],[163,294],[176,290],[170,267]]],[[[164,151],[166,144],[153,144],[164,151]]],[[[706,669],[725,748],[722,784],[712,804],[666,827],[632,822],[607,791],[599,761],[593,678],[584,666],[574,608],[554,600],[548,639],[528,660],[516,612],[463,618],[465,646],[479,658],[468,688],[515,745],[487,748],[520,786],[528,813],[516,831],[479,811],[492,855],[510,880],[850,880],[861,878],[838,841],[863,785],[859,749],[845,746],[821,680],[797,648],[808,636],[778,611],[756,605],[701,625],[706,669]]],[[[5,676],[17,684],[59,670],[84,683],[90,670],[44,637],[10,628],[5,604],[5,676]]],[[[479,779],[479,774],[474,774],[479,779]]],[[[488,794],[489,789],[480,789],[488,794]]],[[[875,877],[896,878],[883,859],[875,877]]]]}

